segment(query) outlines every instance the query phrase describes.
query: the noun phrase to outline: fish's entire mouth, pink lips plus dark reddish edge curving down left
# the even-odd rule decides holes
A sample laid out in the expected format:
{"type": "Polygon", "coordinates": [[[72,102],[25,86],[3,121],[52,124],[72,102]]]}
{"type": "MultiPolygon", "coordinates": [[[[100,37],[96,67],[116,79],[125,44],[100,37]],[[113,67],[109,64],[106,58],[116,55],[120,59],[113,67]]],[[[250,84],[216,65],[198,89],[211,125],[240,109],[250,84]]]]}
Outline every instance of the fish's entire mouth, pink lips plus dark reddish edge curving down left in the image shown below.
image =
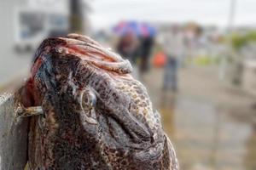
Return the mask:
{"type": "MultiPolygon", "coordinates": [[[[37,70],[40,56],[49,54],[54,50],[60,54],[72,54],[98,68],[114,72],[119,75],[131,73],[132,67],[128,59],[122,59],[119,54],[114,53],[110,48],[102,45],[90,37],[79,34],[68,34],[67,37],[47,38],[38,47],[34,55],[34,65],[37,70]]],[[[34,71],[33,71],[34,70],[34,71]]]]}

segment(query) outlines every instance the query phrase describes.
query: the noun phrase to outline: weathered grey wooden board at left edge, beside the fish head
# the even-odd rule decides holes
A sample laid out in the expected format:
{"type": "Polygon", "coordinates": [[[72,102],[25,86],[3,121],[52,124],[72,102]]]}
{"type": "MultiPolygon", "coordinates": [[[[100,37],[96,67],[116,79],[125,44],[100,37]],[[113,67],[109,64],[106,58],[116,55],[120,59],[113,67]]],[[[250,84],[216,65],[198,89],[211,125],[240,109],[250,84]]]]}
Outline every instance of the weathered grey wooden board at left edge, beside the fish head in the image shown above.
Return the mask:
{"type": "Polygon", "coordinates": [[[27,157],[27,119],[15,122],[14,95],[0,96],[0,170],[22,170],[27,157]]]}

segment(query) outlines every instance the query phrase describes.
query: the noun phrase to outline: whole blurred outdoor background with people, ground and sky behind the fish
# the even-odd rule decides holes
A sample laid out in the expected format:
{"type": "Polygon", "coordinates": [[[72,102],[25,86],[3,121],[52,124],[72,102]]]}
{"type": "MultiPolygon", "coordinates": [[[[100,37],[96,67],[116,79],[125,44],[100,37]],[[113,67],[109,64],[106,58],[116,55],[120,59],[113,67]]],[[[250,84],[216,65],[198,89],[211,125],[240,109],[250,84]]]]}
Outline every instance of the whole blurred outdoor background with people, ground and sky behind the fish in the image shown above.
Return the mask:
{"type": "Polygon", "coordinates": [[[0,93],[45,37],[78,32],[131,61],[183,170],[256,169],[256,1],[2,0],[0,93]]]}

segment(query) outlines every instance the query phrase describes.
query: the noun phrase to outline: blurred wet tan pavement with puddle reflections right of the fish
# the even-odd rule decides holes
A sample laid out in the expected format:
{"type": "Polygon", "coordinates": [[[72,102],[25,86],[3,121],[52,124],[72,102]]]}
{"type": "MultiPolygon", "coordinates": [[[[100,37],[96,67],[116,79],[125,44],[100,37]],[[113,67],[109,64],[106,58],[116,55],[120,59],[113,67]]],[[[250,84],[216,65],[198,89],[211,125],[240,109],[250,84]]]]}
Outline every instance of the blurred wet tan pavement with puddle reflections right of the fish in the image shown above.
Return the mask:
{"type": "Polygon", "coordinates": [[[153,70],[144,83],[181,169],[255,170],[255,98],[218,82],[214,69],[183,69],[177,94],[161,90],[161,75],[153,70]]]}

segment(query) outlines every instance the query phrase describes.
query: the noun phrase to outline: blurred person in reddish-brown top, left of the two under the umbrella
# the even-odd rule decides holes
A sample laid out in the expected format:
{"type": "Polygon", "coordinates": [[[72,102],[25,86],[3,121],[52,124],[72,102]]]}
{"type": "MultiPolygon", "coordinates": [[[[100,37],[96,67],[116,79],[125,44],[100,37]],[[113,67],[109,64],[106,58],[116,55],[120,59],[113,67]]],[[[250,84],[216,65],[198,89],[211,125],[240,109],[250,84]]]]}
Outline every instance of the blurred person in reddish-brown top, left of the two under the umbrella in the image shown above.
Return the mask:
{"type": "Polygon", "coordinates": [[[140,43],[136,34],[132,31],[125,33],[119,39],[117,45],[118,53],[125,59],[129,59],[131,65],[133,66],[132,76],[138,79],[138,69],[137,69],[137,58],[139,54],[140,43]]]}

